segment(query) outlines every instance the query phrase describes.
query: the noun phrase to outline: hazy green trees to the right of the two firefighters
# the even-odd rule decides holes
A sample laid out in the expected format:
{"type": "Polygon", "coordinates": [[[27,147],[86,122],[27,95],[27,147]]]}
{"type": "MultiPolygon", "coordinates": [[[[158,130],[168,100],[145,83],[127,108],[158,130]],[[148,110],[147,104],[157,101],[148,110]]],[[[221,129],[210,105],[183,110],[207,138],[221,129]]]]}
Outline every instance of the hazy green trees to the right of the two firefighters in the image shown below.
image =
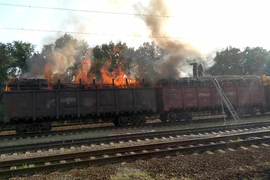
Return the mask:
{"type": "Polygon", "coordinates": [[[217,51],[216,64],[209,69],[211,75],[263,75],[270,76],[270,52],[261,47],[227,47],[217,51]]]}

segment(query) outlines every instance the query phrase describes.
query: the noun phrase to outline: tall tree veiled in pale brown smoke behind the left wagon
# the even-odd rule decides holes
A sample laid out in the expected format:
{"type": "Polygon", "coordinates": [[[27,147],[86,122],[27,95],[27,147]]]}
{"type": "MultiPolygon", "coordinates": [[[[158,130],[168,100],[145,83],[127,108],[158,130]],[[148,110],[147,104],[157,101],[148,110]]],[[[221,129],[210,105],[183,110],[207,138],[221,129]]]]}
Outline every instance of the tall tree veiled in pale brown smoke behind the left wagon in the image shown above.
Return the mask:
{"type": "MultiPolygon", "coordinates": [[[[81,62],[87,56],[88,50],[87,41],[79,41],[69,34],[64,34],[56,39],[54,43],[43,45],[41,52],[34,53],[28,63],[29,72],[25,76],[44,77],[47,66],[53,69],[53,66],[56,64],[64,63],[68,64],[69,67],[65,71],[59,70],[57,74],[50,76],[51,79],[49,78],[49,80],[57,82],[57,79],[60,79],[61,82],[72,82],[76,75],[76,69],[80,68],[81,62]],[[59,56],[68,56],[65,60],[68,62],[61,62],[62,59],[59,56]]],[[[61,68],[61,66],[59,67],[61,68]]]]}

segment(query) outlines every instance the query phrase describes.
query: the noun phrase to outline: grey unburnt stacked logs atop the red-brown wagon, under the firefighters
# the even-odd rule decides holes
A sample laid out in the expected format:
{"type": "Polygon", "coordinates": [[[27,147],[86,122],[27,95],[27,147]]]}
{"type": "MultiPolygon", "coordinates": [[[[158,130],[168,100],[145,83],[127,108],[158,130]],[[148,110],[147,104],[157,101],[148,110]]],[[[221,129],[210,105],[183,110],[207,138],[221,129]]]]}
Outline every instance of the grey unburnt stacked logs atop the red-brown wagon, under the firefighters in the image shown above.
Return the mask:
{"type": "MultiPolygon", "coordinates": [[[[215,76],[221,86],[241,86],[241,85],[258,85],[260,78],[258,76],[215,76]]],[[[213,82],[209,76],[199,78],[179,78],[179,79],[163,79],[160,80],[157,87],[166,86],[213,86],[213,82]]]]}

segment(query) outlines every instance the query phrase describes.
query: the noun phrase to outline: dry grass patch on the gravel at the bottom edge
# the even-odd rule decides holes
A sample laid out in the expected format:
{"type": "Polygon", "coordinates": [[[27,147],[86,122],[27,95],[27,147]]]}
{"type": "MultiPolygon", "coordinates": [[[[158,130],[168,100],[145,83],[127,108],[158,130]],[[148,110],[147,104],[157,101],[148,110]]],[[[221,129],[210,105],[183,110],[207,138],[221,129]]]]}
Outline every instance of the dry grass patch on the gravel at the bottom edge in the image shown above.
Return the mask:
{"type": "Polygon", "coordinates": [[[147,172],[140,170],[124,170],[112,175],[110,180],[191,180],[190,178],[166,178],[165,175],[158,175],[156,178],[152,178],[147,172]]]}

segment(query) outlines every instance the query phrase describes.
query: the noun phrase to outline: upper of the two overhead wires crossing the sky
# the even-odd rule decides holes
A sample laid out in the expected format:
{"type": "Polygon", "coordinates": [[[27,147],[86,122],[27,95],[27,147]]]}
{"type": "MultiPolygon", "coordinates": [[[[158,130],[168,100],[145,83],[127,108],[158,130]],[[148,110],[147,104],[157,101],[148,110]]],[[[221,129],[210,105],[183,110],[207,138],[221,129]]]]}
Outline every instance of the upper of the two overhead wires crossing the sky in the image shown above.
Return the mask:
{"type": "Polygon", "coordinates": [[[166,15],[133,14],[133,13],[105,12],[105,11],[89,11],[89,10],[80,10],[80,9],[52,8],[52,7],[31,6],[31,5],[16,5],[16,4],[5,4],[5,3],[0,3],[0,5],[19,6],[19,7],[32,7],[32,8],[40,8],[40,9],[55,9],[55,10],[67,10],[67,11],[80,11],[80,12],[94,12],[94,13],[105,13],[105,14],[120,14],[120,15],[135,15],[135,16],[154,16],[154,17],[174,17],[174,16],[166,16],[166,15]]]}

